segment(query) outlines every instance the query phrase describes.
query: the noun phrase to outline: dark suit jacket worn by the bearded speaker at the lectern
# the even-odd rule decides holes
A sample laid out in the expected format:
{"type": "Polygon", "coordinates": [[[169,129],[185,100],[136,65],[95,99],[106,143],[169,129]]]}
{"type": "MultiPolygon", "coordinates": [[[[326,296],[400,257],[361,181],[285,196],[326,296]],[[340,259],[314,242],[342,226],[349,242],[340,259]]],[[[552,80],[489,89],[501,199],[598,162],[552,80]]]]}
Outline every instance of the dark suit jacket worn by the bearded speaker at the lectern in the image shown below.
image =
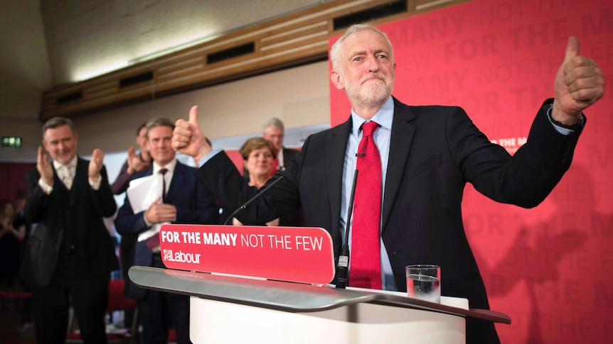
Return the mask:
{"type": "MultiPolygon", "coordinates": [[[[580,131],[561,135],[548,121],[548,100],[538,111],[528,142],[513,157],[489,142],[459,107],[407,106],[394,99],[390,156],[383,199],[382,236],[400,291],[405,265],[442,267],[442,294],[488,309],[484,284],[462,223],[464,185],[495,201],[538,205],[570,166],[580,131]]],[[[270,221],[302,206],[304,225],[325,228],[341,248],[342,173],[351,118],[309,136],[282,174],[286,179],[240,213],[240,221],[270,221]]],[[[236,209],[256,192],[241,182],[220,153],[198,170],[198,179],[236,209]]],[[[271,181],[273,180],[271,179],[271,181]]],[[[269,181],[269,182],[271,182],[269,181]]]]}

